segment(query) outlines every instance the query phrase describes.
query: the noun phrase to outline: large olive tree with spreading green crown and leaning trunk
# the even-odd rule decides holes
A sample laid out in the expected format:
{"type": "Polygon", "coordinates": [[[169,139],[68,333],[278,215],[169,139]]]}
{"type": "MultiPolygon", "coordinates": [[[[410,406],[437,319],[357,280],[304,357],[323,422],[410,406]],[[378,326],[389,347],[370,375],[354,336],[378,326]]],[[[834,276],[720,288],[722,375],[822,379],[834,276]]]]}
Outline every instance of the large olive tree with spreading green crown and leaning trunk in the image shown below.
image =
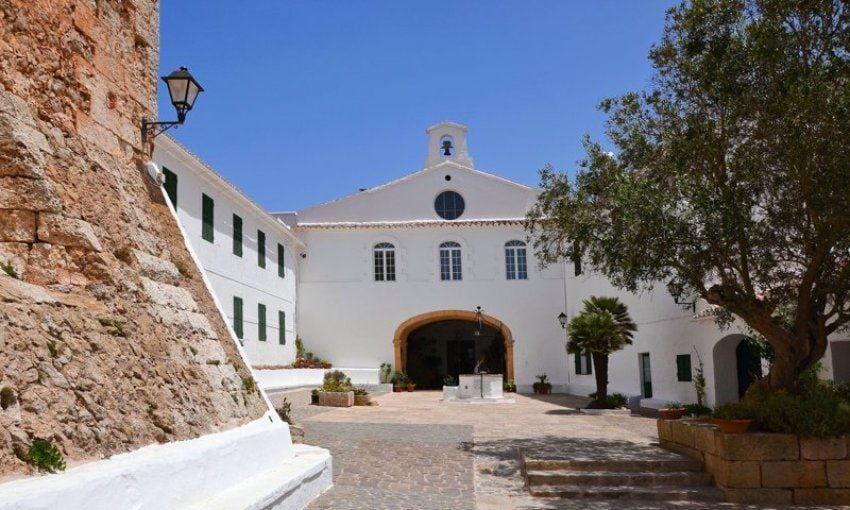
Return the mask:
{"type": "Polygon", "coordinates": [[[540,261],[578,253],[620,288],[722,307],[789,389],[850,325],[848,33],[845,0],[672,8],[650,88],[600,105],[613,147],[586,138],[574,179],[541,171],[540,261]]]}

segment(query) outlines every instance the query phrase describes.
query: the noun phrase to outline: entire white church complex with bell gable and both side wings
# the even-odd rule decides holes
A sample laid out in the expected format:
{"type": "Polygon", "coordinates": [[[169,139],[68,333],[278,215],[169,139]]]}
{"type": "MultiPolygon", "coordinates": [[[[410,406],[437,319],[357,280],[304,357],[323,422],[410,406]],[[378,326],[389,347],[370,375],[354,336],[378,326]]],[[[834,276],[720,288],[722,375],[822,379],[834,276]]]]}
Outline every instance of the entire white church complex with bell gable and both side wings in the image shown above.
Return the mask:
{"type": "MultiPolygon", "coordinates": [[[[634,344],[611,358],[609,391],[649,407],[694,402],[701,365],[714,404],[736,400],[762,370],[744,331],[721,331],[705,303],[676,304],[663,287],[625,293],[598,275],[576,275],[572,263],[539,268],[524,230],[537,190],[476,169],[465,126],[442,122],[426,132],[422,169],[276,219],[173,140],[158,142],[156,161],[177,174],[180,219],[219,299],[227,308],[243,297],[244,343],[255,365],[294,358],[292,342],[274,341],[273,319],[268,340],[259,340],[251,313],[265,300],[270,317],[281,310],[297,318],[308,350],[361,375],[376,378],[389,362],[420,387],[438,387],[483,358],[520,391],[547,374],[555,391],[587,394],[595,389],[589,360],[567,356],[557,317],[572,317],[591,295],[616,295],[639,329],[634,344]],[[212,243],[202,232],[202,193],[215,201],[212,243]],[[241,258],[230,249],[234,212],[243,218],[241,258]],[[273,257],[257,267],[257,229],[266,229],[272,254],[276,243],[284,246],[285,277],[274,277],[273,257]]],[[[286,329],[294,338],[296,322],[286,329]]],[[[850,341],[841,340],[825,363],[847,380],[850,341]]]]}

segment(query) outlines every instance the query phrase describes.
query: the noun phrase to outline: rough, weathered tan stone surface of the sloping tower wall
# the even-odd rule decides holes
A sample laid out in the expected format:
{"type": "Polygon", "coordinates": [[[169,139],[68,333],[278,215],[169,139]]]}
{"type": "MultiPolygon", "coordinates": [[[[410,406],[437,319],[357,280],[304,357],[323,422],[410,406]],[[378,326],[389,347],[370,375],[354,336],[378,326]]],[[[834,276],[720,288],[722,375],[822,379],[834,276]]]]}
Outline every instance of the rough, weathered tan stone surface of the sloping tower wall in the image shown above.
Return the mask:
{"type": "Polygon", "coordinates": [[[266,405],[160,189],[156,0],[0,0],[0,477],[34,438],[69,465],[266,405]]]}

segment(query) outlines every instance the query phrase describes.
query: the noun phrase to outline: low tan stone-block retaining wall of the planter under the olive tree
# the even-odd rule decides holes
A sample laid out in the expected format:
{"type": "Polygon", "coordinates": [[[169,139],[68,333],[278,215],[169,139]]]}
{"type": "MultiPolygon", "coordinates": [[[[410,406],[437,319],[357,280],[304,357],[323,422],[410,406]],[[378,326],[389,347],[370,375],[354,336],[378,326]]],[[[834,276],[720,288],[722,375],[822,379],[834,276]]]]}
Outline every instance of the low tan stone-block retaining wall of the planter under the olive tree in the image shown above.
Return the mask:
{"type": "Polygon", "coordinates": [[[658,420],[661,445],[705,462],[729,501],[850,504],[847,436],[724,434],[708,423],[658,420]]]}

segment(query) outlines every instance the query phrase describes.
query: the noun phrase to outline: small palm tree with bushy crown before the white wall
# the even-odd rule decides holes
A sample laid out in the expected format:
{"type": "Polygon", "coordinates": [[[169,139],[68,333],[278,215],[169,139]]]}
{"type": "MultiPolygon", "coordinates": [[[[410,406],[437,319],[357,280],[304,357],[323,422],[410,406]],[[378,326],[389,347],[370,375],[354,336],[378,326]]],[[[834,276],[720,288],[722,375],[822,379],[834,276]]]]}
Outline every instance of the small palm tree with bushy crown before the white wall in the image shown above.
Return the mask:
{"type": "Polygon", "coordinates": [[[637,325],[625,304],[615,297],[591,296],[584,309],[567,325],[567,352],[590,352],[596,374],[596,403],[608,397],[608,357],[632,343],[637,325]]]}

